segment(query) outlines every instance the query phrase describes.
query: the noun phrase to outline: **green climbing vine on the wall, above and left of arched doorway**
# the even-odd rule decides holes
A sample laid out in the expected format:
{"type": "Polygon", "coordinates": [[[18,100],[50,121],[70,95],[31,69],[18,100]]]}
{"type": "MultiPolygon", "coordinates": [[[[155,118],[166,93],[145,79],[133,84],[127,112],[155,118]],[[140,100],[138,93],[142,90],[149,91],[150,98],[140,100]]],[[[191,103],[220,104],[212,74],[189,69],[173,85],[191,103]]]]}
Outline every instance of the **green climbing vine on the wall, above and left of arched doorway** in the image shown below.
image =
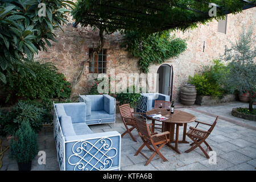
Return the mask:
{"type": "Polygon", "coordinates": [[[123,46],[131,55],[139,57],[139,66],[144,73],[150,64],[162,64],[170,57],[178,56],[187,49],[183,39],[170,36],[170,31],[139,36],[135,31],[125,32],[123,46]]]}

